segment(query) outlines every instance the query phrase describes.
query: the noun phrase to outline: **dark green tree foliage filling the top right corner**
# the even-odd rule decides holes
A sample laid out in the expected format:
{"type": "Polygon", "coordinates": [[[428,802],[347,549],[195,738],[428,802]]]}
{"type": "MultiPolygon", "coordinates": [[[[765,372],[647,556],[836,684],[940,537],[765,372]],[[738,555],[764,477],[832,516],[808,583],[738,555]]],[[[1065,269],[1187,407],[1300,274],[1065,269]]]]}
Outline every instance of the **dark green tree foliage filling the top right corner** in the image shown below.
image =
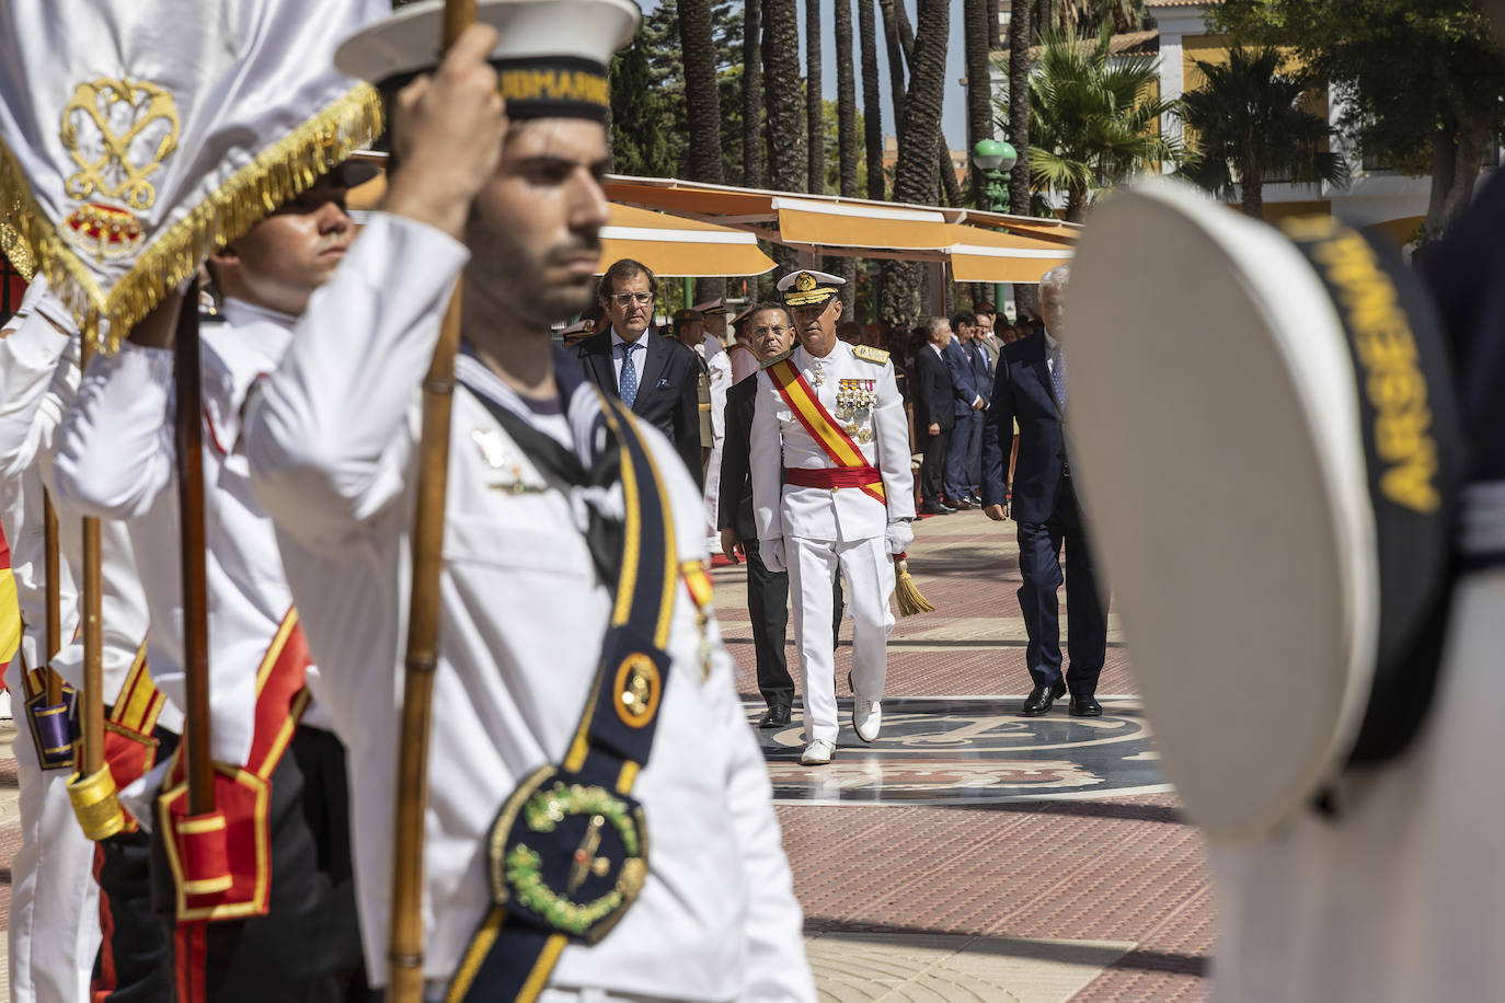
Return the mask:
{"type": "Polygon", "coordinates": [[[1228,0],[1218,27],[1291,50],[1342,105],[1370,164],[1431,174],[1427,238],[1467,205],[1505,126],[1505,63],[1467,0],[1228,0]]]}

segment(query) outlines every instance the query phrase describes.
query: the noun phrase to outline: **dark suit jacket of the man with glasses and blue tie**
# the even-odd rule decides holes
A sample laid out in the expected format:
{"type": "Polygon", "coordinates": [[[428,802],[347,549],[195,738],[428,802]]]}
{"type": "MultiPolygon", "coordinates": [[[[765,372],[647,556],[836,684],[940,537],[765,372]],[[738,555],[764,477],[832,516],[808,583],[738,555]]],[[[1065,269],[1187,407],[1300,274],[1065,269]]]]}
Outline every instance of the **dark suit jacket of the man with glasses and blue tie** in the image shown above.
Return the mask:
{"type": "MultiPolygon", "coordinates": [[[[704,484],[700,468],[700,358],[679,341],[649,331],[643,335],[647,358],[637,364],[638,395],[632,414],[668,436],[674,451],[697,484],[704,484]]],[[[611,328],[579,343],[579,362],[585,376],[602,392],[617,392],[616,359],[611,356],[611,328]]]]}

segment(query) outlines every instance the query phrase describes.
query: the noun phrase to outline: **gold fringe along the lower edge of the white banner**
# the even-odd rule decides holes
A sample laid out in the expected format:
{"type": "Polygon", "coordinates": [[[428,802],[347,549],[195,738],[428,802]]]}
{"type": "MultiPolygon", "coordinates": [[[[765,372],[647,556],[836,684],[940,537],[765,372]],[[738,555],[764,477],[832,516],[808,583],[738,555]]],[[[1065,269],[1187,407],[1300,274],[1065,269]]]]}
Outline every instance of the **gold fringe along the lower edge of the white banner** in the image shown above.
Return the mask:
{"type": "MultiPolygon", "coordinates": [[[[182,286],[200,262],[245,235],[284,202],[296,198],[351,153],[382,132],[376,89],[349,93],[256,155],[187,217],[161,232],[108,296],[53,223],[42,215],[11,150],[0,143],[0,206],[15,206],[6,223],[30,251],[35,269],[72,311],[80,331],[111,355],[131,328],[182,286]],[[107,331],[101,335],[101,320],[107,331]]],[[[5,227],[0,227],[3,232],[5,227]]],[[[12,262],[14,263],[14,262],[12,262]]],[[[20,268],[17,271],[21,271],[20,268]]]]}

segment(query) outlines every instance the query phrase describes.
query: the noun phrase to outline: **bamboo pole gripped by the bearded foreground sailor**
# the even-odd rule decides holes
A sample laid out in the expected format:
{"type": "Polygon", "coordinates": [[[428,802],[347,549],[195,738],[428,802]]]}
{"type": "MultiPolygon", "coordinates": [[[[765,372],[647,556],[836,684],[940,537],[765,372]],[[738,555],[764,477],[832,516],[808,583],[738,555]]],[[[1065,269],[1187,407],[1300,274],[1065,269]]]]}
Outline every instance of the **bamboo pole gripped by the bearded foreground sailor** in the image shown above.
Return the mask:
{"type": "MultiPolygon", "coordinates": [[[[445,51],[474,20],[476,0],[445,0],[441,39],[445,51]]],[[[391,926],[387,941],[387,994],[391,1003],[423,1000],[423,814],[429,803],[429,729],[433,672],[439,660],[439,571],[444,565],[450,403],[455,395],[455,353],[459,343],[461,283],[456,281],[429,371],[423,377],[423,436],[412,529],[412,591],[408,598],[391,926]]]]}

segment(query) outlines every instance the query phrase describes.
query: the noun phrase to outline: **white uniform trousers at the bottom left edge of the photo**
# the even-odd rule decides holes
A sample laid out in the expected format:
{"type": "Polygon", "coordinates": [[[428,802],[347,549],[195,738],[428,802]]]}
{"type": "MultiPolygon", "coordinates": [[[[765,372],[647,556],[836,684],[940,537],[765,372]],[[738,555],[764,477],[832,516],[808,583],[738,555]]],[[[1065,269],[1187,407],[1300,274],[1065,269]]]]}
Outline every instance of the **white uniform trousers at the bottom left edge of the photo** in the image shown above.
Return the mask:
{"type": "Polygon", "coordinates": [[[68,798],[68,770],[42,770],[26,722],[21,659],[6,671],[17,695],[14,753],[21,786],[21,848],[11,862],[12,1003],[84,1003],[99,950],[95,845],[68,798]]]}

